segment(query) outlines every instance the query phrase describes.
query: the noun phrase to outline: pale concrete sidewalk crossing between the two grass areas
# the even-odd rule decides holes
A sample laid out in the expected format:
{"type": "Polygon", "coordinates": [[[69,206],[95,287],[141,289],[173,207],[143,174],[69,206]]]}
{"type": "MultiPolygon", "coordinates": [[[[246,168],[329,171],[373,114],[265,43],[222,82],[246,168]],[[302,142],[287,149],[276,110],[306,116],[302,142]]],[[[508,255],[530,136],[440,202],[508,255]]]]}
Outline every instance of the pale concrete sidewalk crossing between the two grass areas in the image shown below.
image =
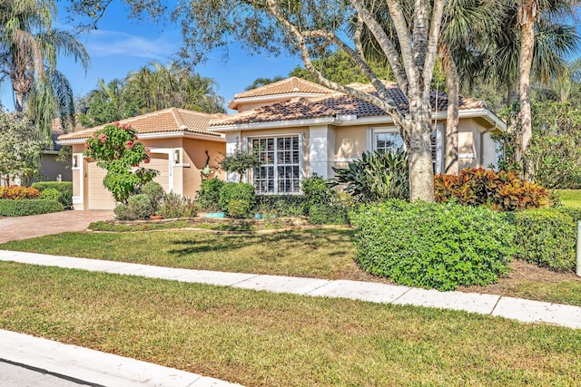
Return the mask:
{"type": "Polygon", "coordinates": [[[317,278],[189,270],[6,250],[0,250],[0,260],[121,275],[145,276],[180,282],[225,285],[275,293],[342,297],[384,304],[419,305],[462,310],[506,317],[524,323],[555,324],[581,329],[581,307],[579,306],[543,303],[499,295],[438,292],[437,290],[408,286],[349,280],[331,281],[317,278]]]}

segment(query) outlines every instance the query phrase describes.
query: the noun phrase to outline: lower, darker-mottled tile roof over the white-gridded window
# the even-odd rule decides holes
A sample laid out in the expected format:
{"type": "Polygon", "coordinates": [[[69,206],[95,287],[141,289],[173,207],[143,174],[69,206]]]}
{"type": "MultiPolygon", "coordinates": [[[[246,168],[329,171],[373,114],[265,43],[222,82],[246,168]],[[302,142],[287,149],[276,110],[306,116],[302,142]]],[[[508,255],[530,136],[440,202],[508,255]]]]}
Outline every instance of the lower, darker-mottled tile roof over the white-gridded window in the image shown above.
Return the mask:
{"type": "MultiPolygon", "coordinates": [[[[409,110],[409,103],[396,83],[389,83],[388,92],[401,111],[409,110]]],[[[373,86],[350,84],[350,87],[378,95],[373,86]]],[[[432,92],[430,95],[432,109],[438,105],[438,111],[448,109],[448,95],[443,92],[432,92]]],[[[460,110],[487,108],[486,102],[460,98],[460,110]]],[[[377,106],[361,101],[349,95],[333,92],[330,95],[314,98],[295,98],[288,102],[278,102],[262,106],[251,111],[234,114],[225,119],[212,120],[211,126],[235,125],[254,122],[309,120],[317,118],[332,118],[341,115],[356,115],[358,117],[385,116],[387,113],[377,106]]]]}

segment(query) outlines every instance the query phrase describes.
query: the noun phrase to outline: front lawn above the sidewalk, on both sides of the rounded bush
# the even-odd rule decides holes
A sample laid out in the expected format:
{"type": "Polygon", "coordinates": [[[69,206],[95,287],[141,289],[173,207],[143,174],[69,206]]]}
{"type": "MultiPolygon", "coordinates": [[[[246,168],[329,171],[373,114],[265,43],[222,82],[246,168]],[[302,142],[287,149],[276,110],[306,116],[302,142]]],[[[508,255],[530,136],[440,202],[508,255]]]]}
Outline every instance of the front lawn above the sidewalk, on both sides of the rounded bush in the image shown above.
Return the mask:
{"type": "MultiPolygon", "coordinates": [[[[389,282],[354,262],[350,229],[310,229],[272,234],[217,235],[173,230],[135,233],[64,233],[8,242],[2,249],[81,256],[155,266],[389,282]]],[[[581,278],[523,261],[497,284],[459,290],[581,306],[581,278]]]]}

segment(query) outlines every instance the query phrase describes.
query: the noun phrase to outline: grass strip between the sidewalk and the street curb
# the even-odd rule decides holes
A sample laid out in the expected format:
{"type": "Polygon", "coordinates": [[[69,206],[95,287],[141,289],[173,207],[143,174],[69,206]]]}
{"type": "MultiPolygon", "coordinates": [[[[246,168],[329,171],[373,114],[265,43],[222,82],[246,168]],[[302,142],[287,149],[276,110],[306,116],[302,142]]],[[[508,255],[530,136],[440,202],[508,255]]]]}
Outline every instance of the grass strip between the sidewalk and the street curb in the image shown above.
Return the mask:
{"type": "Polygon", "coordinates": [[[0,263],[0,328],[253,386],[574,386],[581,330],[0,263]]]}

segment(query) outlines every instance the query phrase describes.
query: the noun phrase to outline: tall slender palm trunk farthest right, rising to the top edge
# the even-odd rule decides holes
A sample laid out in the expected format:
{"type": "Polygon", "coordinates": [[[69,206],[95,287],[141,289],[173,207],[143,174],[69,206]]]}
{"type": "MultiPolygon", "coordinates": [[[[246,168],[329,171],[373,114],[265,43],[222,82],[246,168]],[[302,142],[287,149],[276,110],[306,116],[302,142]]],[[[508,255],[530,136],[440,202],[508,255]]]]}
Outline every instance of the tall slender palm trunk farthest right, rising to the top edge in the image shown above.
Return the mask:
{"type": "Polygon", "coordinates": [[[517,161],[523,161],[523,178],[532,181],[535,176],[533,163],[527,156],[528,146],[532,138],[532,119],[530,111],[530,68],[533,63],[535,48],[535,17],[534,0],[523,0],[522,23],[520,27],[520,59],[518,67],[520,113],[518,123],[520,130],[520,155],[517,161]]]}

